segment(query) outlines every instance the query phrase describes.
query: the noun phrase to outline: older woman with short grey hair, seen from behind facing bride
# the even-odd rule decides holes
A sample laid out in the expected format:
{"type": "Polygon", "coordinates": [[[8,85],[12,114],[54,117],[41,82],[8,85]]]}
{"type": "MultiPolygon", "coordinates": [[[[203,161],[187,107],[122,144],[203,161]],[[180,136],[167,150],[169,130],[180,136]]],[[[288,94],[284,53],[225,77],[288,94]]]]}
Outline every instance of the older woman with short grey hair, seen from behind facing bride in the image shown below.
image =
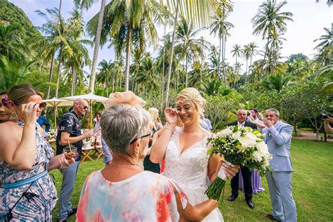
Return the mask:
{"type": "Polygon", "coordinates": [[[149,142],[149,113],[129,104],[103,112],[100,125],[112,149],[112,162],[86,178],[78,221],[200,221],[217,207],[215,200],[191,206],[168,178],[139,168],[149,142]]]}

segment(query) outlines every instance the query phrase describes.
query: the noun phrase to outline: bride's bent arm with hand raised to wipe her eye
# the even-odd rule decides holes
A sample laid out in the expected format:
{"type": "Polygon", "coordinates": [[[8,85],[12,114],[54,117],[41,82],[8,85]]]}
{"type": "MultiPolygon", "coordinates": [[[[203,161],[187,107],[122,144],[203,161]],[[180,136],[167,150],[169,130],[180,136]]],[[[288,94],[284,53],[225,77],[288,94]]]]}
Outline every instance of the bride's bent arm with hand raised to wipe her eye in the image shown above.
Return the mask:
{"type": "Polygon", "coordinates": [[[164,158],[171,135],[174,133],[174,129],[176,128],[176,123],[178,121],[178,110],[173,108],[166,108],[164,110],[164,116],[167,125],[161,130],[159,138],[152,145],[150,150],[150,161],[155,164],[162,162],[162,159],[164,158]]]}

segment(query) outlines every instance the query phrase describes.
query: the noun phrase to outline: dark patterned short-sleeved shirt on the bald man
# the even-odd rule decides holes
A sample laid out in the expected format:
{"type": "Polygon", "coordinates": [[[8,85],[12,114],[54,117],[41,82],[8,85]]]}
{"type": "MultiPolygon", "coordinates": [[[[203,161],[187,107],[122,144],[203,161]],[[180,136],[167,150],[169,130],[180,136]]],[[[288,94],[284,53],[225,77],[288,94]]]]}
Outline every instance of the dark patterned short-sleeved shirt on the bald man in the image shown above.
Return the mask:
{"type": "MultiPolygon", "coordinates": [[[[77,116],[77,114],[72,110],[70,112],[67,112],[63,115],[63,117],[60,119],[60,122],[58,124],[58,134],[57,134],[57,155],[60,155],[63,153],[63,148],[65,148],[65,145],[60,144],[60,138],[62,132],[70,133],[70,137],[80,136],[81,135],[81,124],[80,124],[80,117],[77,116]]],[[[81,159],[81,148],[83,145],[83,141],[77,141],[77,143],[72,143],[72,146],[77,148],[77,155],[76,161],[79,161],[81,159]]]]}

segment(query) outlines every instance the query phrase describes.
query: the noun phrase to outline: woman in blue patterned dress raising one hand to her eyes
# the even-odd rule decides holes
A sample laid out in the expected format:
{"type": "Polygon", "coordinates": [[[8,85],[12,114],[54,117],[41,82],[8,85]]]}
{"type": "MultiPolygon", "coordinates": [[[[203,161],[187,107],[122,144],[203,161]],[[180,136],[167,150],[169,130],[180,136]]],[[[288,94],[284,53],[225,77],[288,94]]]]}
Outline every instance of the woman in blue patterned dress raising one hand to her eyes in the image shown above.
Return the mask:
{"type": "Polygon", "coordinates": [[[13,86],[6,100],[11,119],[0,124],[0,221],[51,221],[57,193],[48,171],[74,159],[53,157],[37,117],[46,103],[28,85],[13,86]]]}

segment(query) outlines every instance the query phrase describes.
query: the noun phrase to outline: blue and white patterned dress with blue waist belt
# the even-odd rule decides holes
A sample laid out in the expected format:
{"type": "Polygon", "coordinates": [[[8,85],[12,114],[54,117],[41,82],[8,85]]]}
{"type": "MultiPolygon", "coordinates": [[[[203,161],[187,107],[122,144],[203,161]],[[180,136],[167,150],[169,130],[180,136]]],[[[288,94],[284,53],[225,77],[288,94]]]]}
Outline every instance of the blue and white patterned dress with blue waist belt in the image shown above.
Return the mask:
{"type": "MultiPolygon", "coordinates": [[[[17,124],[23,126],[22,122],[17,122],[17,124]]],[[[18,171],[6,162],[0,162],[1,183],[22,181],[48,169],[48,163],[53,157],[53,149],[37,130],[36,139],[37,154],[32,168],[18,171]]],[[[15,204],[11,211],[13,216],[11,221],[51,221],[52,209],[57,200],[57,191],[49,174],[32,182],[32,184],[28,183],[18,188],[0,188],[0,221],[5,220],[4,216],[15,204]],[[20,199],[25,190],[28,194],[20,199]]]]}

